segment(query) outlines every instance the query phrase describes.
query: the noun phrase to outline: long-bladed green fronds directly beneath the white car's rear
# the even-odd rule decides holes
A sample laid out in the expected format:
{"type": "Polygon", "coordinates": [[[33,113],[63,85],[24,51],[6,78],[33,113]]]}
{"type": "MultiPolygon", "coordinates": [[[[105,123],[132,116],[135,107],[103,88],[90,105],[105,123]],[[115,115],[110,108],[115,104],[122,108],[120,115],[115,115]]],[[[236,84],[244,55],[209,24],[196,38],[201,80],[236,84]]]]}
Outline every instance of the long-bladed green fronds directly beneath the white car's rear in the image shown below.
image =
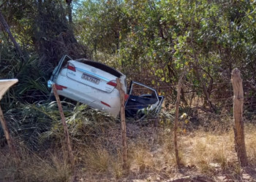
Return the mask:
{"type": "MultiPolygon", "coordinates": [[[[73,143],[90,143],[94,138],[101,138],[115,124],[113,117],[86,105],[74,106],[67,102],[61,102],[61,105],[73,143]]],[[[29,149],[47,149],[49,145],[64,141],[64,128],[55,101],[16,103],[15,108],[7,111],[5,117],[12,135],[29,149]]],[[[3,144],[3,133],[0,138],[3,144]]]]}

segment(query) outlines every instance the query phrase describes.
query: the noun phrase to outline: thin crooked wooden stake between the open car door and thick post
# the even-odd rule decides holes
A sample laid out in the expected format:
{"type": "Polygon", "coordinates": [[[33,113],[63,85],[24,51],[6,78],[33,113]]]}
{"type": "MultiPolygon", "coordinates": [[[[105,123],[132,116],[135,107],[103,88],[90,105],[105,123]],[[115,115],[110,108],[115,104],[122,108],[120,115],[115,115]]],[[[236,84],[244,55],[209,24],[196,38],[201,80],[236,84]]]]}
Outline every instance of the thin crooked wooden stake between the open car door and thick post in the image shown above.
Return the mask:
{"type": "Polygon", "coordinates": [[[180,159],[178,157],[178,144],[177,144],[177,129],[178,129],[178,106],[179,106],[179,100],[181,98],[181,84],[182,79],[184,77],[185,72],[181,74],[181,77],[178,79],[178,85],[177,85],[177,99],[176,99],[176,113],[175,113],[175,121],[174,121],[174,131],[173,131],[173,138],[174,138],[174,151],[175,151],[175,157],[176,157],[176,167],[180,168],[180,159]]]}

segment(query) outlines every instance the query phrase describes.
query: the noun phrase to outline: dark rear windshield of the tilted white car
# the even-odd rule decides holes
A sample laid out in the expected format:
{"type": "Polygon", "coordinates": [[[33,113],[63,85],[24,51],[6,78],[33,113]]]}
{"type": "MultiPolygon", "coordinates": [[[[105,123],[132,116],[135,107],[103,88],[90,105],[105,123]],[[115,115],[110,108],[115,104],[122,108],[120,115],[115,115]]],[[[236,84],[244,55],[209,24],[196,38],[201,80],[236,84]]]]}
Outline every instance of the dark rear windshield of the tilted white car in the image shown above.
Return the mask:
{"type": "Polygon", "coordinates": [[[86,65],[89,65],[89,66],[94,66],[94,68],[98,68],[102,71],[106,71],[108,72],[109,74],[112,74],[118,78],[120,78],[120,76],[122,76],[122,74],[115,70],[114,68],[111,68],[109,66],[106,66],[105,64],[102,64],[102,63],[98,63],[98,62],[95,62],[95,61],[92,61],[92,60],[77,60],[81,63],[84,63],[86,65]]]}

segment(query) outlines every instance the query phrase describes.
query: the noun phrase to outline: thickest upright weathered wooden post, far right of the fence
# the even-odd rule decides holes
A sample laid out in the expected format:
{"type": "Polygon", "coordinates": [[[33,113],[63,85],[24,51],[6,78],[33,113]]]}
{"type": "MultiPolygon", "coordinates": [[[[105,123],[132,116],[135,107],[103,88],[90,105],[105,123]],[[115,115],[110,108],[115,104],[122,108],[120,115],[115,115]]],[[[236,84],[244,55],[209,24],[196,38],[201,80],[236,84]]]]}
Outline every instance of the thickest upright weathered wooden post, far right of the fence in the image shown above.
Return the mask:
{"type": "Polygon", "coordinates": [[[231,74],[231,82],[233,85],[233,117],[234,117],[234,133],[235,133],[235,150],[238,156],[238,161],[241,166],[248,165],[246,148],[244,143],[244,120],[243,120],[243,105],[244,105],[244,90],[243,80],[238,68],[233,69],[231,74]]]}

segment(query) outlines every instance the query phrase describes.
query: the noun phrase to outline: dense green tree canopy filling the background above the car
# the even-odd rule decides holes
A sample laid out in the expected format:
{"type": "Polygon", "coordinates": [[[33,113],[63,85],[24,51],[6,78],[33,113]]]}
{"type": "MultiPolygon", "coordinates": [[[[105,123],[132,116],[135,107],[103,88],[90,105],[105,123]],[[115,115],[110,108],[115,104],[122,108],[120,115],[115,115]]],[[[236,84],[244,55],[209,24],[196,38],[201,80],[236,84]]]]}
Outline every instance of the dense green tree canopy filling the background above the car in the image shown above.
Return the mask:
{"type": "MultiPolygon", "coordinates": [[[[230,95],[227,82],[239,68],[244,80],[252,81],[244,83],[246,92],[255,97],[255,7],[255,1],[233,0],[2,0],[2,15],[33,61],[20,63],[1,26],[1,77],[19,77],[34,63],[39,67],[29,67],[27,76],[45,84],[42,80],[68,54],[116,67],[170,100],[184,69],[189,90],[209,100],[230,95]]],[[[181,99],[187,103],[184,91],[181,99]]]]}

